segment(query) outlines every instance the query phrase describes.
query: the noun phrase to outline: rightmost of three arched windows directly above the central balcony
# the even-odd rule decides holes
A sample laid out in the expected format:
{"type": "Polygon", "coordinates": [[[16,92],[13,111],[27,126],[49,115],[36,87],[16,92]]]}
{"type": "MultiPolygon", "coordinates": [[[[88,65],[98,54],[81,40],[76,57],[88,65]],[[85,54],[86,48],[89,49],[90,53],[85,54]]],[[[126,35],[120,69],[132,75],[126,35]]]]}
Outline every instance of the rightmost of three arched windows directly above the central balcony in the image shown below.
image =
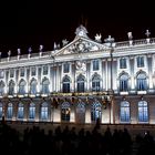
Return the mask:
{"type": "Polygon", "coordinates": [[[94,75],[92,79],[92,91],[100,92],[100,76],[94,75]]]}

